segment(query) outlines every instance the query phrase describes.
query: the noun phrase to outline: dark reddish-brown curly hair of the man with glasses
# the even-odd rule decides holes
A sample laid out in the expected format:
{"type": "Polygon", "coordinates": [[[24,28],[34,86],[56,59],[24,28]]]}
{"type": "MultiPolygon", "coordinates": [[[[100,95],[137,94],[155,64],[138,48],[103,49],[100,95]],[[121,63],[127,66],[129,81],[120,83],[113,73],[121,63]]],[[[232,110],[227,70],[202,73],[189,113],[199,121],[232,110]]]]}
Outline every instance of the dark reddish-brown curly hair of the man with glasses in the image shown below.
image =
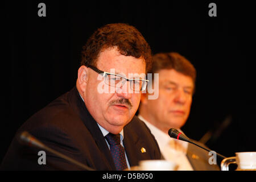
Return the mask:
{"type": "Polygon", "coordinates": [[[125,23],[106,24],[98,28],[82,47],[81,65],[97,66],[97,58],[106,48],[117,46],[125,56],[143,57],[146,72],[151,68],[151,48],[137,28],[125,23]]]}

